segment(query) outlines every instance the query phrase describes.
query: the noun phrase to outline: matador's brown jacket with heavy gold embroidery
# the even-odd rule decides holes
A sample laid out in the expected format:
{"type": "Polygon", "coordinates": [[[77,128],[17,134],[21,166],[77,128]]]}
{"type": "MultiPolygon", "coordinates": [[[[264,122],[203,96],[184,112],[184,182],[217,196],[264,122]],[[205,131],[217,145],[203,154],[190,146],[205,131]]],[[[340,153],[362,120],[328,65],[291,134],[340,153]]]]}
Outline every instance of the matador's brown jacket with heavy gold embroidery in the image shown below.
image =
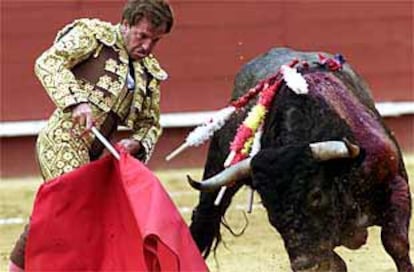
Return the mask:
{"type": "Polygon", "coordinates": [[[64,27],[35,64],[35,73],[62,112],[90,102],[103,113],[115,112],[145,148],[145,161],[161,134],[160,81],[167,78],[154,56],[132,63],[132,105],[123,103],[128,54],[119,25],[80,19],[64,27]]]}

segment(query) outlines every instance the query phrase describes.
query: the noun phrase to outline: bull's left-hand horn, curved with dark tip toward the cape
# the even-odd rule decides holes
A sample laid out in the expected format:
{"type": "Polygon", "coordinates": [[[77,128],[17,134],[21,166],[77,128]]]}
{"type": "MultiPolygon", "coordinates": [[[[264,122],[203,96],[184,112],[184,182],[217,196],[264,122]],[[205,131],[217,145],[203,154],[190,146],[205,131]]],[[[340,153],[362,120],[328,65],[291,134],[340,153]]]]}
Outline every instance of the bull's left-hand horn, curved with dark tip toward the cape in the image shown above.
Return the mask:
{"type": "Polygon", "coordinates": [[[190,185],[197,190],[214,191],[230,182],[247,177],[250,174],[250,161],[251,158],[247,158],[202,182],[197,182],[188,175],[187,179],[190,185]]]}

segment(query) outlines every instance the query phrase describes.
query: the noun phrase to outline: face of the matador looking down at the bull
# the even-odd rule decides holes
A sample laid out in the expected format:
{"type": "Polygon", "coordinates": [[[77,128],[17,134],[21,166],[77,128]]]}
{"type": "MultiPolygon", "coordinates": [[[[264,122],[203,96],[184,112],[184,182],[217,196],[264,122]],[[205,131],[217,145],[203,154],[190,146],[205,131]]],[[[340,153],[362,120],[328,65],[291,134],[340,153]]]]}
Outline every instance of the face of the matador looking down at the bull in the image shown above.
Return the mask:
{"type": "Polygon", "coordinates": [[[129,56],[134,60],[141,60],[152,52],[165,35],[165,26],[155,28],[146,18],[135,25],[124,20],[121,33],[129,56]]]}

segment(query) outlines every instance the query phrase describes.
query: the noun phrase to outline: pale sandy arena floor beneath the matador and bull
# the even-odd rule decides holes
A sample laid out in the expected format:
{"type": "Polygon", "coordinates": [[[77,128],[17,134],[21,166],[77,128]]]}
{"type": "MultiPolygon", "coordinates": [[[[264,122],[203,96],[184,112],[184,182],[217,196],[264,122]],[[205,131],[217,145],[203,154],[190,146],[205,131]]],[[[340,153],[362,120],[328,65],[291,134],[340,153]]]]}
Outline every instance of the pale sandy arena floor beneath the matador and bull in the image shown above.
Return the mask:
{"type": "MultiPolygon", "coordinates": [[[[411,188],[414,188],[414,156],[406,157],[411,188]]],[[[200,178],[201,169],[157,172],[172,199],[188,222],[197,194],[185,182],[185,174],[200,178]]],[[[6,271],[8,254],[30,214],[32,201],[40,178],[7,180],[0,182],[0,271],[6,271]]],[[[412,193],[412,196],[413,193],[412,193]]],[[[233,201],[227,220],[234,230],[245,224],[247,190],[242,190],[233,201]]],[[[254,210],[248,214],[249,225],[241,237],[233,237],[222,230],[224,244],[219,246],[216,258],[211,255],[207,264],[212,272],[222,271],[290,271],[290,265],[280,235],[269,225],[260,199],[255,197],[254,210]]],[[[414,248],[414,226],[410,228],[411,248],[414,248]]],[[[380,241],[379,228],[370,228],[368,243],[351,251],[343,247],[336,250],[343,257],[350,272],[396,271],[391,258],[385,253],[380,241]]],[[[411,250],[414,258],[414,250],[411,250]]]]}

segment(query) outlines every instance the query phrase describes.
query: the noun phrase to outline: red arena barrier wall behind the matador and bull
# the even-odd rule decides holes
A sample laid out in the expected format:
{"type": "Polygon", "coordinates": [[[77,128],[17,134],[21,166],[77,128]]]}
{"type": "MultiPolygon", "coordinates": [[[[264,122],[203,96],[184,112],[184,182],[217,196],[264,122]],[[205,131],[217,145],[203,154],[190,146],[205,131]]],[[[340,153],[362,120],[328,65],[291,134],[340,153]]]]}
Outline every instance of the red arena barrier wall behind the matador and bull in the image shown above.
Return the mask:
{"type": "MultiPolygon", "coordinates": [[[[53,105],[33,74],[34,60],[51,45],[56,32],[65,24],[81,17],[116,23],[123,3],[0,0],[0,122],[47,118],[53,105]]],[[[176,25],[156,51],[170,74],[162,90],[164,113],[221,108],[241,65],[272,47],[282,46],[342,53],[368,82],[376,101],[414,100],[412,1],[171,3],[176,25]]],[[[414,150],[413,120],[411,116],[390,121],[398,123],[397,139],[404,141],[402,145],[407,150],[414,150]]],[[[174,148],[168,139],[177,133],[165,131],[165,150],[174,148]]],[[[183,133],[180,135],[184,137],[183,133]]],[[[12,175],[14,172],[9,169],[16,165],[34,168],[32,160],[26,161],[33,157],[29,144],[32,141],[30,137],[1,139],[2,176],[12,175]],[[25,156],[28,153],[31,155],[25,156]]],[[[160,155],[155,156],[154,167],[168,167],[156,159],[160,155]]],[[[184,161],[175,164],[190,165],[194,161],[181,160],[184,161]]]]}

